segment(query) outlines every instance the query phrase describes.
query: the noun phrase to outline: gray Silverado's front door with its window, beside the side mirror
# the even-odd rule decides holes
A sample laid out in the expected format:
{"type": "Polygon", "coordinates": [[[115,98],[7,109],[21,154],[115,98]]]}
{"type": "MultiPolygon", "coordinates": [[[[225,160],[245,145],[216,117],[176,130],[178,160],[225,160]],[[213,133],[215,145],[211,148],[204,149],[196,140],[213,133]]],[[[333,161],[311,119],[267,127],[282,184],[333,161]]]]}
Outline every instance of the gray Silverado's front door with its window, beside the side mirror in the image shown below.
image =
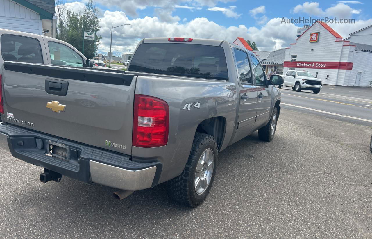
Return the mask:
{"type": "Polygon", "coordinates": [[[261,128],[267,124],[271,112],[271,92],[272,86],[268,85],[266,74],[254,55],[251,55],[254,77],[256,79],[258,102],[257,102],[257,119],[254,125],[255,129],[261,128]]]}

